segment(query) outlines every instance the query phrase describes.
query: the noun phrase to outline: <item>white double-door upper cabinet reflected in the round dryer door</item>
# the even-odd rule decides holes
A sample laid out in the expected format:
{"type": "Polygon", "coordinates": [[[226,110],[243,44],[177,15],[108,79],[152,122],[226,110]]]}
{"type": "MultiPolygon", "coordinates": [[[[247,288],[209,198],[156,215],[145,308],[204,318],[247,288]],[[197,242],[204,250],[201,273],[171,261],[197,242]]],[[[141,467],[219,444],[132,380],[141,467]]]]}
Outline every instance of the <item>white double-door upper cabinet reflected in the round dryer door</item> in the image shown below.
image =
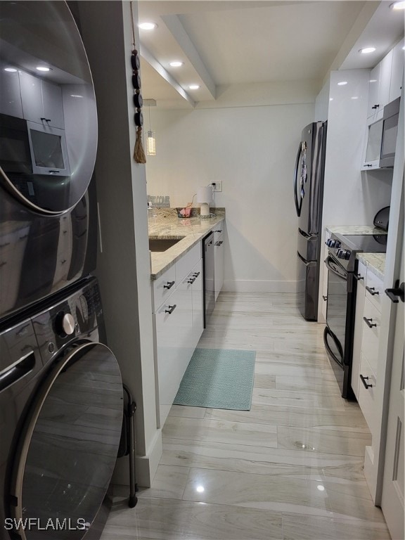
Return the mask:
{"type": "Polygon", "coordinates": [[[21,101],[25,120],[63,129],[62,90],[57,84],[20,72],[21,101]]]}

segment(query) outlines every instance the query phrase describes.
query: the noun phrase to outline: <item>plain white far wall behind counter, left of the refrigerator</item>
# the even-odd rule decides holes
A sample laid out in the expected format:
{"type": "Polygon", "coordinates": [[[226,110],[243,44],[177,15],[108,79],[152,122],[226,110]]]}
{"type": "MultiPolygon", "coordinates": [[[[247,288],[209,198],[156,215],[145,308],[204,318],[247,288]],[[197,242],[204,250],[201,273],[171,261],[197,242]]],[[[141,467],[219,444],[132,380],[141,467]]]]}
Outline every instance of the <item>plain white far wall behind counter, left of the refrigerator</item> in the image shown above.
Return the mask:
{"type": "Polygon", "coordinates": [[[151,110],[157,155],[146,165],[148,195],[184,206],[198,186],[223,183],[216,205],[226,208],[225,290],[295,291],[293,168],[315,98],[305,92],[305,103],[295,84],[290,103],[279,93],[267,97],[278,105],[151,110]]]}

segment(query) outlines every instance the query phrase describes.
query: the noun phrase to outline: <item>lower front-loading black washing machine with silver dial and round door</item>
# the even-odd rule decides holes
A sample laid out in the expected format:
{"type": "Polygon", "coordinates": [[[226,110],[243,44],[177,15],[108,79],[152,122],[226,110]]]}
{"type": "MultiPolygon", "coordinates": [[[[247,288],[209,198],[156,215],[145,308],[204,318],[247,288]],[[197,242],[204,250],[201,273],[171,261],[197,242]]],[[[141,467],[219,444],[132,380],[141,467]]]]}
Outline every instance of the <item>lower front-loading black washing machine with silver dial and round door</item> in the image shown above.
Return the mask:
{"type": "Polygon", "coordinates": [[[98,538],[123,401],[96,278],[13,322],[0,326],[0,539],[98,538]]]}

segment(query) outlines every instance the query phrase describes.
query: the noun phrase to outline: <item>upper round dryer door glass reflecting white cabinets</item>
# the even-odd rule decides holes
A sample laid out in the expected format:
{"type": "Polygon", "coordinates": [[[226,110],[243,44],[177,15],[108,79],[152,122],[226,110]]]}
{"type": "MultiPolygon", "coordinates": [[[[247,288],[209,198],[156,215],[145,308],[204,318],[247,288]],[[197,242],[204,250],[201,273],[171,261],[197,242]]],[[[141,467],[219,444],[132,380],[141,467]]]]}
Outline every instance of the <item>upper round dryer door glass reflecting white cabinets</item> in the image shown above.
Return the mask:
{"type": "Polygon", "coordinates": [[[46,214],[74,207],[97,148],[94,87],[65,1],[0,2],[0,181],[46,214]]]}

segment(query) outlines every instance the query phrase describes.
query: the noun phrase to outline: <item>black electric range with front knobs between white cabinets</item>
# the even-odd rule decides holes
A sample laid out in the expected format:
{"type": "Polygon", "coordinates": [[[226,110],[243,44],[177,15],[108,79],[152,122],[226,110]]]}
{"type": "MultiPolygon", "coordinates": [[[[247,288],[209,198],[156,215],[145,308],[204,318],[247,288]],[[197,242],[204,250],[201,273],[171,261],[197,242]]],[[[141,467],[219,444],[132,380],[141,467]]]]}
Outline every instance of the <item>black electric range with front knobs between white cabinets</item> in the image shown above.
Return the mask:
{"type": "Polygon", "coordinates": [[[342,397],[354,399],[350,385],[356,309],[356,254],[385,253],[387,234],[349,235],[333,233],[326,241],[328,257],[328,304],[323,342],[342,397]]]}

